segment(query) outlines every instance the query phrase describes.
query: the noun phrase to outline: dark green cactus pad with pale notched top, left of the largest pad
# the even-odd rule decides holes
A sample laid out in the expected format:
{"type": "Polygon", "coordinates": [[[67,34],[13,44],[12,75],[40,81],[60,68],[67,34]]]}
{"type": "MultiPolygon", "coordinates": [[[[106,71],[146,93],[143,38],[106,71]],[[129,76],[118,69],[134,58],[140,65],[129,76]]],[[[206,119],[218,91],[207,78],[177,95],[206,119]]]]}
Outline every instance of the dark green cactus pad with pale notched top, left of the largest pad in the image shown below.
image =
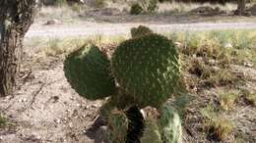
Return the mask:
{"type": "Polygon", "coordinates": [[[65,60],[64,71],[72,88],[81,96],[96,100],[114,94],[110,61],[94,45],[71,53],[65,60]]]}

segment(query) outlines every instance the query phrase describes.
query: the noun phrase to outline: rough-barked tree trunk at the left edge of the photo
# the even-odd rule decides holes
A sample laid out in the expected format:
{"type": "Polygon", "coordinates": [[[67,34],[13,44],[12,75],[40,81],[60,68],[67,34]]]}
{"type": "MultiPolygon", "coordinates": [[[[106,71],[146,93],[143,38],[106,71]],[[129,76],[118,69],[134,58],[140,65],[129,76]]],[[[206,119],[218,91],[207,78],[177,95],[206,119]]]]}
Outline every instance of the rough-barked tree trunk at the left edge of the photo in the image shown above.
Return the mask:
{"type": "Polygon", "coordinates": [[[36,0],[0,0],[0,97],[12,94],[20,71],[23,39],[36,13],[36,0]]]}

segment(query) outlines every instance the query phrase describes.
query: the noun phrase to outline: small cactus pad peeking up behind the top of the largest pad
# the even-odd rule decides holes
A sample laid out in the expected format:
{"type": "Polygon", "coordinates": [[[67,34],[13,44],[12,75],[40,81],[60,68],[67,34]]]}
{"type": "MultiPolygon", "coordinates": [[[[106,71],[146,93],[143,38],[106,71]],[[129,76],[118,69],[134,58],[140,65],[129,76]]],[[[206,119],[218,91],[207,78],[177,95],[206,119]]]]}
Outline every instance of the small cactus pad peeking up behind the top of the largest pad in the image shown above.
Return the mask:
{"type": "Polygon", "coordinates": [[[131,28],[132,38],[144,36],[149,33],[153,33],[153,31],[149,27],[144,25],[139,25],[138,27],[131,28]]]}

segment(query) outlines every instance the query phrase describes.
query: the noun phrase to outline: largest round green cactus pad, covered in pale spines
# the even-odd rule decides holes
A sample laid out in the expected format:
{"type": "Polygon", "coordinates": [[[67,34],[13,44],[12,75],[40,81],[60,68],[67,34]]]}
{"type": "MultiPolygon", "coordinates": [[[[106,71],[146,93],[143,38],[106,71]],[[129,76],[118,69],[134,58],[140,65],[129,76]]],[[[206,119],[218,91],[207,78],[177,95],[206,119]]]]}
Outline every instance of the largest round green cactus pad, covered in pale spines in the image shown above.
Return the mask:
{"type": "Polygon", "coordinates": [[[147,34],[117,47],[112,57],[112,71],[135,104],[159,107],[177,85],[178,53],[166,37],[147,34]]]}

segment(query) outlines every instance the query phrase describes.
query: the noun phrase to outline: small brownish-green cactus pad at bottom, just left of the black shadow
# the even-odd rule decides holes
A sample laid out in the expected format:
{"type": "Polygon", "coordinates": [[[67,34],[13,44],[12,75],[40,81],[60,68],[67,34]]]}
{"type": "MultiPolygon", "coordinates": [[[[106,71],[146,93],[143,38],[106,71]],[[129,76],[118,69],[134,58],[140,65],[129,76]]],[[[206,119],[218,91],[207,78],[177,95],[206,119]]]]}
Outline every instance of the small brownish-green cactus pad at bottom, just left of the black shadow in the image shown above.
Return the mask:
{"type": "Polygon", "coordinates": [[[125,143],[129,124],[125,112],[119,110],[111,111],[107,122],[111,143],[125,143]]]}

